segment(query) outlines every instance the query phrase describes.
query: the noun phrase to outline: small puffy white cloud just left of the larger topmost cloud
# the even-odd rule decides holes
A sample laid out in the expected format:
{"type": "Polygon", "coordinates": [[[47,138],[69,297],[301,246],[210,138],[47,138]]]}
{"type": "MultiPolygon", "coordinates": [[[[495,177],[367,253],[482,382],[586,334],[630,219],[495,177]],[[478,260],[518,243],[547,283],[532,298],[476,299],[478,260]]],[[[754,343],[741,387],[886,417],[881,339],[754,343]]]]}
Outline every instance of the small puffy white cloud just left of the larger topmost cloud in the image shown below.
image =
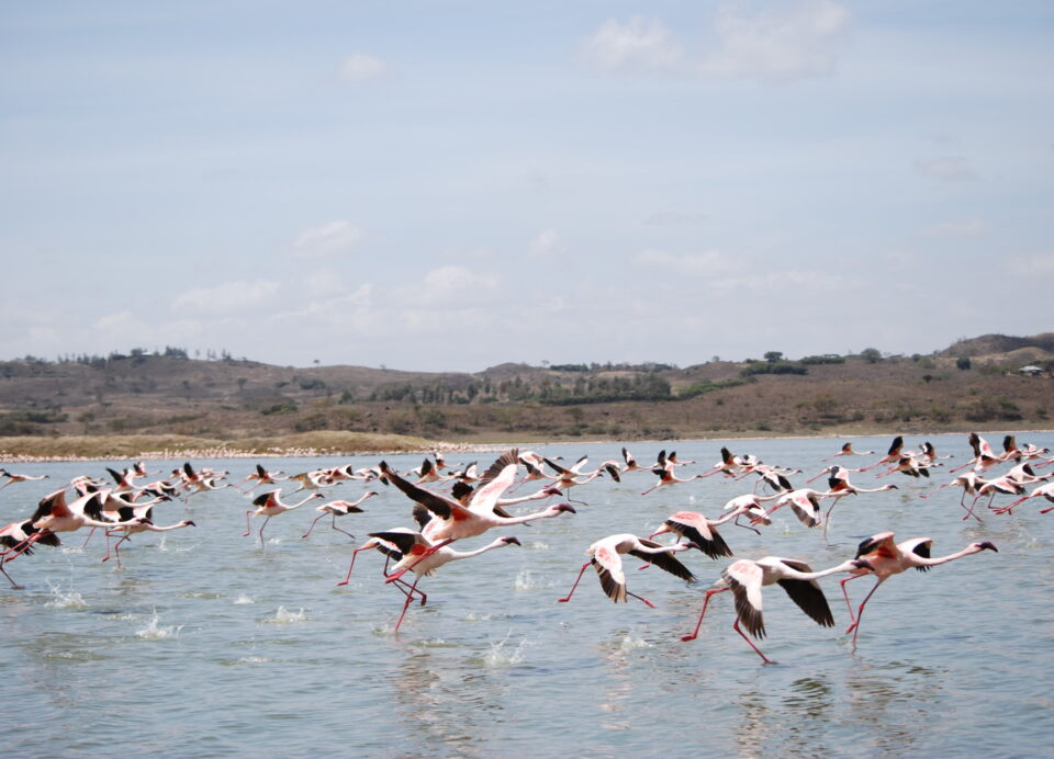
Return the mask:
{"type": "Polygon", "coordinates": [[[605,72],[663,71],[684,61],[684,48],[657,19],[635,15],[625,24],[608,19],[582,42],[582,55],[605,72]]]}

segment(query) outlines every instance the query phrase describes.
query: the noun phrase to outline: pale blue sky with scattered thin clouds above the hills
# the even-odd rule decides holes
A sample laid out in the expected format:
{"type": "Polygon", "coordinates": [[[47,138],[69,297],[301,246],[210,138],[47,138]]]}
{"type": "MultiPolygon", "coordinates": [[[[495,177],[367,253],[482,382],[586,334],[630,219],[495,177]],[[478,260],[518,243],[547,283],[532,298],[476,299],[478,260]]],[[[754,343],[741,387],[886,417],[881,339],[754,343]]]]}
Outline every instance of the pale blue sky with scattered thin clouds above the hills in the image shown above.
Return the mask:
{"type": "Polygon", "coordinates": [[[4,2],[0,359],[1052,331],[1052,32],[1045,0],[4,2]]]}

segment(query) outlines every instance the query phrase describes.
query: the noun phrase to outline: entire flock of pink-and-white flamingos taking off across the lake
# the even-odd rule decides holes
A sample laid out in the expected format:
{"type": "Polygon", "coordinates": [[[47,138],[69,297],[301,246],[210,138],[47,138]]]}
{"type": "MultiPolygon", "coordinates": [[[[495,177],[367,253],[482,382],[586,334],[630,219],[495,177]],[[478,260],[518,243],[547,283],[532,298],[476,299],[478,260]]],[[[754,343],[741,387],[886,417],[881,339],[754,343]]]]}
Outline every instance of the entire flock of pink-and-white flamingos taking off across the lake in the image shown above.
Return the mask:
{"type": "MultiPolygon", "coordinates": [[[[1001,452],[994,450],[977,433],[971,433],[968,442],[973,456],[957,467],[948,468],[948,474],[955,476],[929,492],[920,494],[920,498],[929,498],[943,488],[961,488],[960,505],[965,511],[963,519],[973,518],[978,521],[979,505],[990,513],[1007,514],[1030,499],[1045,499],[1054,503],[1054,482],[1050,482],[1054,478],[1054,472],[1039,474],[1045,467],[1054,465],[1054,456],[1051,456],[1050,450],[1038,449],[1035,445],[1019,448],[1014,435],[1003,438],[1001,452]],[[999,466],[1008,468],[998,476],[986,476],[989,471],[999,466]],[[1013,500],[996,506],[997,497],[1012,497],[1013,500]]],[[[426,593],[418,588],[422,578],[435,575],[439,567],[449,562],[519,545],[519,541],[514,536],[503,536],[464,552],[451,547],[451,544],[496,529],[573,514],[575,508],[569,497],[572,488],[583,487],[602,478],[621,482],[627,476],[642,476],[633,473],[643,473],[658,478],[651,487],[641,491],[641,497],[647,497],[655,489],[706,477],[721,476],[735,480],[752,478],[753,489],[729,500],[718,518],[710,519],[694,511],[679,511],[670,514],[651,535],[616,533],[599,537],[586,548],[588,560],[581,566],[567,596],[558,599],[561,603],[571,601],[583,574],[592,567],[603,592],[615,603],[636,599],[653,607],[651,601],[629,590],[623,566],[624,556],[631,556],[644,562],[646,566],[663,569],[682,581],[695,582],[695,575],[682,560],[682,557],[687,555],[686,552],[698,551],[713,559],[735,557],[733,551],[718,531],[718,528],[725,524],[731,523],[761,534],[761,528],[771,524],[772,513],[788,507],[806,526],[822,528],[826,537],[831,511],[842,498],[897,489],[897,485],[893,483],[873,488],[859,487],[851,482],[851,474],[882,467],[876,474],[878,478],[897,474],[915,479],[930,478],[931,473],[938,467],[946,466],[944,460],[950,458],[938,455],[933,445],[928,442],[923,443],[919,451],[909,450],[905,448],[904,438],[898,435],[885,455],[866,466],[852,468],[842,463],[828,464],[806,483],[808,485],[826,476],[827,489],[816,490],[792,485],[792,477],[806,474],[800,469],[767,465],[753,455],[735,455],[727,448],[721,449],[721,461],[687,476],[682,476],[681,473],[686,473],[687,467],[696,462],[681,461],[675,452],[668,454],[662,451],[655,462],[648,464],[638,463],[626,448],[623,448],[621,452],[621,462],[605,461],[592,469],[586,468],[588,460],[585,456],[573,465],[564,466],[562,460],[518,449],[503,453],[482,473],[478,472],[475,464],[461,468],[449,466],[440,452],[436,452],[421,466],[408,472],[396,472],[385,461],[380,461],[374,466],[358,469],[352,468],[351,464],[345,464],[287,476],[282,472],[268,471],[262,464],[256,464],[255,471],[238,484],[227,482],[229,472],[195,468],[187,462],[173,469],[167,478],[141,485],[141,482],[159,473],[150,473],[144,462],[137,462],[120,472],[108,468],[109,480],[88,475],[75,477],[41,499],[32,516],[0,529],[0,573],[8,578],[13,589],[20,588],[8,574],[11,562],[19,558],[24,560],[41,546],[59,546],[61,534],[83,528],[89,528],[92,533],[96,530],[103,531],[106,553],[102,560],[108,562],[114,557],[120,565],[121,544],[132,535],[197,526],[192,520],[187,519],[157,524],[155,513],[160,511],[157,508],[159,505],[176,500],[186,502],[190,498],[224,488],[237,488],[251,499],[254,508],[246,510],[244,536],[253,534],[251,520],[262,517],[257,540],[261,550],[266,550],[264,530],[273,517],[293,511],[311,501],[325,499],[326,490],[340,483],[359,483],[370,489],[355,500],[326,500],[316,506],[317,516],[302,535],[303,539],[309,539],[317,522],[328,517],[333,530],[354,539],[351,533],[337,525],[337,519],[362,512],[361,503],[378,495],[378,486],[394,487],[413,503],[411,517],[414,526],[400,525],[369,533],[369,539],[351,551],[347,575],[337,585],[349,582],[359,553],[378,551],[383,554],[383,581],[404,597],[394,628],[397,633],[411,604],[419,601],[421,605],[424,605],[427,601],[426,593]],[[306,495],[300,500],[282,500],[282,487],[293,483],[298,487],[292,494],[303,491],[306,495]],[[514,487],[525,483],[537,483],[538,489],[526,496],[508,495],[514,487]],[[259,494],[258,489],[261,490],[259,494]],[[514,506],[553,498],[562,501],[518,516],[509,511],[514,506]],[[825,501],[828,501],[826,511],[825,501]],[[654,540],[663,534],[672,535],[675,542],[660,543],[654,540]],[[110,539],[113,536],[119,540],[111,546],[110,539]],[[410,576],[413,577],[412,581],[410,576]]],[[[875,455],[877,454],[874,451],[855,451],[852,443],[845,443],[821,463],[827,464],[836,458],[846,461],[855,456],[875,455]]],[[[47,476],[15,474],[0,468],[0,478],[5,480],[0,485],[2,491],[9,486],[42,480],[47,476]]],[[[1051,510],[1054,510],[1054,506],[1042,508],[1040,513],[1051,510]]],[[[90,536],[89,534],[89,539],[90,536]]],[[[964,556],[997,551],[993,543],[982,541],[945,556],[934,557],[931,555],[932,544],[931,539],[923,536],[895,542],[893,532],[882,532],[862,541],[851,558],[819,571],[815,571],[805,562],[780,556],[738,558],[724,568],[721,578],[706,591],[694,631],[683,635],[681,639],[692,641],[697,637],[711,597],[731,591],[736,607],[732,628],[765,662],[770,662],[751,639],[765,637],[762,589],[778,584],[790,600],[817,624],[833,626],[834,620],[818,580],[829,575],[844,574],[846,577],[840,580],[840,586],[851,620],[845,634],[853,634],[852,645],[855,647],[867,601],[889,577],[911,568],[924,571],[964,556]],[[846,584],[868,576],[876,581],[854,608],[846,584]]]]}

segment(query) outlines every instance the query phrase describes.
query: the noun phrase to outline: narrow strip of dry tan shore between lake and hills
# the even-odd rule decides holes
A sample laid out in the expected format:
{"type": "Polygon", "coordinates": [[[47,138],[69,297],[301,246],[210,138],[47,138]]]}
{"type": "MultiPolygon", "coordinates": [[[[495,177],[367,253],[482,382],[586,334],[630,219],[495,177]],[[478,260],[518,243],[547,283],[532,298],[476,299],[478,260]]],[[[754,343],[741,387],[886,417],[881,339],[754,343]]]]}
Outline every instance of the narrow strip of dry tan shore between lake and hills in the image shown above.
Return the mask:
{"type": "MultiPolygon", "coordinates": [[[[968,434],[978,431],[987,434],[1046,434],[1054,430],[1045,429],[984,429],[974,430],[931,430],[913,432],[905,430],[868,430],[866,432],[832,431],[830,433],[800,434],[708,434],[705,437],[677,438],[675,440],[631,441],[616,439],[581,438],[547,439],[520,441],[493,440],[473,442],[431,441],[395,434],[372,434],[362,432],[310,432],[276,438],[246,438],[235,440],[209,440],[181,435],[105,435],[105,437],[26,437],[0,438],[0,464],[46,463],[67,461],[113,461],[113,460],[214,460],[214,458],[290,458],[323,456],[362,456],[374,454],[406,454],[444,452],[486,452],[508,448],[509,445],[567,445],[567,444],[676,444],[679,442],[705,442],[728,440],[804,440],[804,439],[865,439],[893,438],[897,434],[924,438],[939,434],[968,434]]],[[[1019,441],[1028,442],[1028,441],[1019,441]]]]}

